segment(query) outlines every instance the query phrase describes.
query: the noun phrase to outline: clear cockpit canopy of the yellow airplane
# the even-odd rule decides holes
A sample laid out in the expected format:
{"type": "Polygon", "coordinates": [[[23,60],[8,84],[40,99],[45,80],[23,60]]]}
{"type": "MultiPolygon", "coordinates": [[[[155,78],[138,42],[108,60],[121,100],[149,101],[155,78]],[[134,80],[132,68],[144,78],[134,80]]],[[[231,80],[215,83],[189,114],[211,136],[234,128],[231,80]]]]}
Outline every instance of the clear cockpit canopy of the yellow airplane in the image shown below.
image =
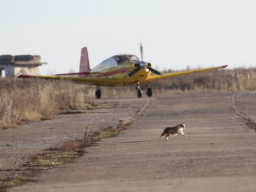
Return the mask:
{"type": "Polygon", "coordinates": [[[136,55],[115,55],[99,63],[99,65],[95,66],[91,72],[101,72],[105,69],[115,68],[123,62],[139,62],[139,59],[136,55]]]}

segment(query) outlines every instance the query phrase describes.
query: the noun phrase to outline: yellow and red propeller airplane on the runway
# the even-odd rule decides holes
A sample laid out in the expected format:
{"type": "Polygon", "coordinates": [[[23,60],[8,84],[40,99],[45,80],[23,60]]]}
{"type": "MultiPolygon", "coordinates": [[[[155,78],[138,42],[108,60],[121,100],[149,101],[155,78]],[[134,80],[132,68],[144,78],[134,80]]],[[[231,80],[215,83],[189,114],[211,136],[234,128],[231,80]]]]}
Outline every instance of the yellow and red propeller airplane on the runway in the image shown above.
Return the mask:
{"type": "Polygon", "coordinates": [[[93,69],[90,68],[87,47],[82,48],[79,73],[55,74],[54,76],[32,76],[22,74],[18,78],[36,77],[43,79],[68,79],[88,85],[96,85],[95,98],[101,98],[101,86],[136,85],[138,98],[142,97],[141,84],[146,84],[146,94],[152,96],[151,82],[160,79],[183,76],[185,74],[199,73],[214,69],[226,68],[227,65],[210,68],[194,69],[162,74],[152,68],[150,62],[143,60],[143,45],[140,44],[141,60],[137,55],[119,54],[105,59],[93,69]],[[154,73],[154,75],[152,75],[154,73]]]}

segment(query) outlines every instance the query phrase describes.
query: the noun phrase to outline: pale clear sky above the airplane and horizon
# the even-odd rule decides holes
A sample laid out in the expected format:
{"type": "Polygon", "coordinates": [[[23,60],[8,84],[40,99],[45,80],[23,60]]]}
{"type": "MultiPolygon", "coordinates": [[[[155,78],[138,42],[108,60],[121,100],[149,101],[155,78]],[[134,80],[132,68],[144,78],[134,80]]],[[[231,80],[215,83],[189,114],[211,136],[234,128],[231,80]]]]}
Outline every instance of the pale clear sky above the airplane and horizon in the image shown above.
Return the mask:
{"type": "Polygon", "coordinates": [[[256,67],[254,0],[0,0],[0,55],[40,55],[40,74],[135,54],[159,70],[256,67]]]}

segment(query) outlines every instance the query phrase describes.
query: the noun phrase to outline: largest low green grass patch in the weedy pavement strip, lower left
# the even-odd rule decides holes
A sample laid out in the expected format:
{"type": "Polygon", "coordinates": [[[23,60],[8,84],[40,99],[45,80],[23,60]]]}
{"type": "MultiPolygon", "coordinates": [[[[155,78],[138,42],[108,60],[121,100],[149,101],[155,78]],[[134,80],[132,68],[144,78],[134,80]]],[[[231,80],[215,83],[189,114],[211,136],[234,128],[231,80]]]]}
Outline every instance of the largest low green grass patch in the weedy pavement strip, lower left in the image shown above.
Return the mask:
{"type": "Polygon", "coordinates": [[[53,152],[37,155],[29,166],[60,166],[74,162],[79,155],[74,151],[53,152]]]}

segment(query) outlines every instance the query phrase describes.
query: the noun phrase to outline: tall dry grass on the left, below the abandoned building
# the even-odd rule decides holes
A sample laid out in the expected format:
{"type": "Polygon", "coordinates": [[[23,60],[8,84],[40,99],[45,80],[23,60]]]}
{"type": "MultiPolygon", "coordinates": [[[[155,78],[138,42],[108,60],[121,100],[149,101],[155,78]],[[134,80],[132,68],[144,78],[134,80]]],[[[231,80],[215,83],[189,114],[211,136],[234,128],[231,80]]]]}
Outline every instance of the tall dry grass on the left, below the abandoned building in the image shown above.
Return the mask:
{"type": "Polygon", "coordinates": [[[64,80],[6,78],[0,80],[0,91],[0,127],[52,118],[59,112],[85,110],[93,105],[85,102],[81,85],[64,80]]]}

